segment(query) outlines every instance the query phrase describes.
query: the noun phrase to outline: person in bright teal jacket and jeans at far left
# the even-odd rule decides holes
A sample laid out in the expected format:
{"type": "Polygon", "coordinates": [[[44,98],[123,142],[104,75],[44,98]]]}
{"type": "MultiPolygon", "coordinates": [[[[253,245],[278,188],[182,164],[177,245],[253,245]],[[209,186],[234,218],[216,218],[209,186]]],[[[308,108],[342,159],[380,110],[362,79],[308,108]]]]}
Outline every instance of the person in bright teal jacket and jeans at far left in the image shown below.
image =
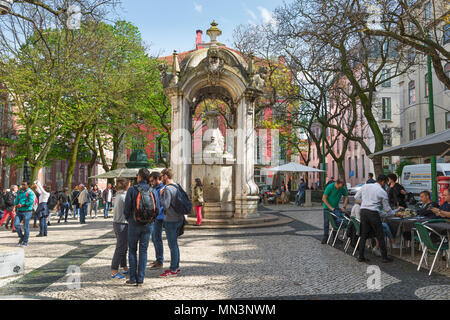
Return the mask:
{"type": "Polygon", "coordinates": [[[18,246],[28,246],[28,238],[30,235],[30,219],[33,212],[33,204],[35,202],[36,195],[29,188],[28,182],[23,181],[20,191],[17,193],[17,197],[14,200],[16,208],[16,217],[14,219],[14,227],[19,235],[18,246]],[[23,221],[24,233],[20,227],[20,222],[23,221]]]}

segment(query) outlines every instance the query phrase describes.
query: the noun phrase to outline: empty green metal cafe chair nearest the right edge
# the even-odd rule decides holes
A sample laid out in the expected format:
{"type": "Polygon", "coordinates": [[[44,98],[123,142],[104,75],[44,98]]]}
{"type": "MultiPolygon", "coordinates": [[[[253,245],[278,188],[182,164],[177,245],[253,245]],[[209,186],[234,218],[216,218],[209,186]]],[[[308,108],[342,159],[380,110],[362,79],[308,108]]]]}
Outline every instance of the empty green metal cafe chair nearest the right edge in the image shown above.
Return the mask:
{"type": "Polygon", "coordinates": [[[437,233],[436,231],[434,231],[432,228],[430,228],[428,225],[422,224],[422,223],[415,223],[414,224],[416,229],[417,229],[417,233],[419,234],[419,239],[420,242],[422,243],[422,246],[424,248],[423,250],[423,254],[422,257],[420,258],[420,263],[419,263],[419,267],[417,268],[417,271],[420,270],[420,267],[422,266],[422,262],[423,259],[425,257],[425,255],[427,256],[426,259],[428,259],[428,253],[430,254],[434,254],[435,257],[433,259],[433,264],[431,265],[430,268],[430,272],[428,275],[431,275],[431,273],[433,272],[433,268],[434,265],[436,263],[437,257],[439,256],[439,252],[442,250],[442,253],[445,254],[447,256],[447,262],[446,262],[446,266],[448,267],[448,250],[449,250],[449,246],[448,246],[448,242],[445,242],[446,237],[441,236],[439,233],[437,233]],[[434,233],[435,235],[437,235],[441,241],[438,243],[434,243],[431,240],[431,234],[434,233]]]}

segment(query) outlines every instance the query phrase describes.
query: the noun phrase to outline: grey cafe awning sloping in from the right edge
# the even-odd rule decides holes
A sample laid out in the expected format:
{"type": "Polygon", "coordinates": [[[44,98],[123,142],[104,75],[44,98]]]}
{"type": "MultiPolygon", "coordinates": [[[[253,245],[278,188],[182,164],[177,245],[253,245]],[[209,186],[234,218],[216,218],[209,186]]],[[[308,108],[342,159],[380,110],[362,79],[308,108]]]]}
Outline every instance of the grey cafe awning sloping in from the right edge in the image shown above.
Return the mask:
{"type": "Polygon", "coordinates": [[[375,156],[450,156],[450,129],[369,155],[370,158],[375,156]]]}

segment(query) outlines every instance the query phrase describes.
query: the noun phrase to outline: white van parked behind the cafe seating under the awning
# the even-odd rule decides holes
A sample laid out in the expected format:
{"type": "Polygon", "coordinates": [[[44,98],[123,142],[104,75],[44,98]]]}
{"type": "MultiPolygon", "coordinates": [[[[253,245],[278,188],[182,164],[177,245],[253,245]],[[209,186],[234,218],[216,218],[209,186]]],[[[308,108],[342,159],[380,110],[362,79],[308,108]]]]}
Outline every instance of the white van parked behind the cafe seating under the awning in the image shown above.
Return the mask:
{"type": "MultiPolygon", "coordinates": [[[[437,163],[436,173],[438,177],[450,176],[450,163],[437,163]]],[[[431,164],[416,164],[405,166],[402,173],[403,187],[406,192],[411,192],[416,199],[424,190],[431,192],[431,164]]]]}

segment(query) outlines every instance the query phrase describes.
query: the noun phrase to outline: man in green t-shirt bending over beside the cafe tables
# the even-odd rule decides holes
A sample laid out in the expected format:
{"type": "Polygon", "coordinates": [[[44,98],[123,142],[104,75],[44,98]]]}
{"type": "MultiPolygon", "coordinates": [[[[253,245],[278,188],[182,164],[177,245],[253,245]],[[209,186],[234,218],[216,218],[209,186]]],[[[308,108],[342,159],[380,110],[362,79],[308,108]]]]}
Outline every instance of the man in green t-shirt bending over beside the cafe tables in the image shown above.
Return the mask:
{"type": "MultiPolygon", "coordinates": [[[[333,179],[333,178],[331,178],[333,179]]],[[[334,213],[338,217],[338,224],[341,223],[343,219],[343,212],[346,211],[348,204],[348,192],[344,187],[344,181],[341,179],[336,180],[336,182],[332,182],[325,188],[325,192],[322,197],[323,201],[323,239],[322,244],[327,243],[329,230],[330,230],[330,222],[328,221],[328,212],[334,213]],[[344,205],[342,209],[339,208],[339,202],[341,201],[342,196],[344,196],[344,205]]]]}

